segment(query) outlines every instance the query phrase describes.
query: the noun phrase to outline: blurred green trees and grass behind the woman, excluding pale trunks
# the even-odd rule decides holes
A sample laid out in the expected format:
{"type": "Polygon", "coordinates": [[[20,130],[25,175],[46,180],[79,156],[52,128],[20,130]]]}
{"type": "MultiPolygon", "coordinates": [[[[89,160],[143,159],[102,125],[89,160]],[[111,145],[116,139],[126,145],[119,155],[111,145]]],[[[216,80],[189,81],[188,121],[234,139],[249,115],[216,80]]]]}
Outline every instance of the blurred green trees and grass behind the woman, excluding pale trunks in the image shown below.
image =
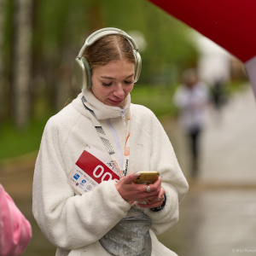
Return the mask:
{"type": "MultiPolygon", "coordinates": [[[[139,31],[146,41],[140,51],[143,70],[139,80],[148,86],[136,86],[132,102],[151,108],[157,115],[172,113],[172,84],[197,53],[188,37],[189,28],[148,1],[137,0],[62,0],[33,1],[32,9],[32,120],[27,129],[16,131],[12,118],[12,50],[15,40],[13,19],[15,2],[5,6],[3,45],[4,110],[0,126],[0,160],[37,150],[44,124],[50,113],[57,112],[62,83],[70,84],[59,106],[64,106],[78,90],[73,63],[90,32],[106,27],[119,27],[125,32],[139,31]],[[162,85],[160,85],[162,84],[162,85]]],[[[67,88],[67,87],[65,87],[67,88]]],[[[64,90],[64,89],[63,89],[64,90]]]]}

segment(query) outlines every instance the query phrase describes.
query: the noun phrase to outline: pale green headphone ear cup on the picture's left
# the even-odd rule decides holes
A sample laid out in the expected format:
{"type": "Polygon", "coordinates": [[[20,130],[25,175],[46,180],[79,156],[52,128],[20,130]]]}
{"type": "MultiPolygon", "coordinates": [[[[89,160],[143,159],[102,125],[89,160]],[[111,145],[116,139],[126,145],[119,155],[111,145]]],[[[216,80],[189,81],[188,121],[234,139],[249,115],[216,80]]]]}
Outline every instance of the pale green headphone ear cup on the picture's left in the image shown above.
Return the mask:
{"type": "Polygon", "coordinates": [[[89,62],[84,57],[75,59],[75,76],[79,87],[83,90],[91,87],[91,73],[89,62]]]}

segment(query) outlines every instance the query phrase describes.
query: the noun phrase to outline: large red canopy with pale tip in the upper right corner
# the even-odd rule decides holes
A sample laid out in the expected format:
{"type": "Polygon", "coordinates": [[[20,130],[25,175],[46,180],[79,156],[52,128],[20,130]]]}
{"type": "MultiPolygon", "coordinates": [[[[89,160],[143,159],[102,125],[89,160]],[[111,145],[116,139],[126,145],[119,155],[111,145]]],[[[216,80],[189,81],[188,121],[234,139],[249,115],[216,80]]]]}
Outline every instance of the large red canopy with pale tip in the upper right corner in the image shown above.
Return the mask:
{"type": "Polygon", "coordinates": [[[149,0],[240,59],[256,95],[255,0],[149,0]]]}

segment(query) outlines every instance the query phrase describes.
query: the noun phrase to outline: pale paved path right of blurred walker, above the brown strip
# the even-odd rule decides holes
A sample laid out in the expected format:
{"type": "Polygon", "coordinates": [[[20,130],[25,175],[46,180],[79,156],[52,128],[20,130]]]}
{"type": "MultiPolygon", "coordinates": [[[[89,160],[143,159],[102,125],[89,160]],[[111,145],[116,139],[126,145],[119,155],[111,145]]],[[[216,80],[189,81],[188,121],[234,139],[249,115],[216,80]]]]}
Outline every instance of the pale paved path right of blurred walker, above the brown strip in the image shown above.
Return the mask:
{"type": "Polygon", "coordinates": [[[201,180],[256,184],[256,104],[251,87],[234,96],[202,140],[201,180]]]}

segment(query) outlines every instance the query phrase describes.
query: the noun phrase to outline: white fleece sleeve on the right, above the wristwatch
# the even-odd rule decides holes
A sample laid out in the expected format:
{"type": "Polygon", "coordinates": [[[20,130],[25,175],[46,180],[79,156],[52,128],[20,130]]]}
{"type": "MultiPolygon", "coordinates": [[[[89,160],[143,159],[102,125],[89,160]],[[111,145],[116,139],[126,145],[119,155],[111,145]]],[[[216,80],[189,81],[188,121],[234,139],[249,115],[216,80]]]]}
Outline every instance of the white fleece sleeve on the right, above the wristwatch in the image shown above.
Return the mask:
{"type": "Polygon", "coordinates": [[[160,212],[145,210],[153,220],[152,230],[156,234],[163,233],[177,223],[179,202],[187,193],[189,185],[177,162],[172,144],[166,131],[155,116],[152,118],[152,152],[151,170],[160,172],[162,187],[166,191],[166,206],[160,212]]]}

